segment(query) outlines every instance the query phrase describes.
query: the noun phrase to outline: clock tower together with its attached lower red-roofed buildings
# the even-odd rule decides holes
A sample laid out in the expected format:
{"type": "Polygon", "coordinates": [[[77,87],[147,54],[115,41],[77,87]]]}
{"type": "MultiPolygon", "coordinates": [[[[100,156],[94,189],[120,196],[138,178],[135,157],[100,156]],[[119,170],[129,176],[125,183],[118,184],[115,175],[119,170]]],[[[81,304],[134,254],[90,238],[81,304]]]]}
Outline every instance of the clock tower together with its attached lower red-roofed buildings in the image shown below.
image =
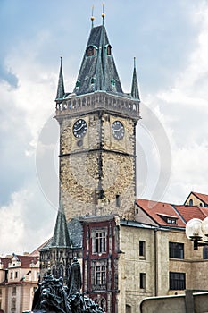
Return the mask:
{"type": "Polygon", "coordinates": [[[189,219],[208,216],[205,199],[191,193],[182,206],[136,199],[136,64],[124,93],[104,16],[92,24],[71,93],[61,62],[55,103],[60,207],[54,236],[40,250],[41,276],[51,267],[66,282],[76,256],[82,292],[108,313],[139,312],[148,296],[206,290],[207,250],[193,250],[185,235],[189,219]]]}

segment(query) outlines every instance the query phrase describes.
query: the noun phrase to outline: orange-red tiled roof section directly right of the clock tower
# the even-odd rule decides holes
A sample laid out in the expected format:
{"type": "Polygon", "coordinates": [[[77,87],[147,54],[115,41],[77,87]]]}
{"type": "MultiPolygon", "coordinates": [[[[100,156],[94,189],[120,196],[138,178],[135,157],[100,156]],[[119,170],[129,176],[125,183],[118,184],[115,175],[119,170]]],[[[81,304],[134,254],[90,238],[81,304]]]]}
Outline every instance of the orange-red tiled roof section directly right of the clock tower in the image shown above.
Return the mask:
{"type": "Polygon", "coordinates": [[[137,199],[137,206],[141,207],[150,216],[154,222],[161,226],[173,226],[174,227],[185,227],[185,223],[181,217],[176,213],[174,208],[169,203],[156,202],[146,199],[137,199]],[[176,224],[169,224],[162,219],[162,216],[175,218],[176,224]]]}

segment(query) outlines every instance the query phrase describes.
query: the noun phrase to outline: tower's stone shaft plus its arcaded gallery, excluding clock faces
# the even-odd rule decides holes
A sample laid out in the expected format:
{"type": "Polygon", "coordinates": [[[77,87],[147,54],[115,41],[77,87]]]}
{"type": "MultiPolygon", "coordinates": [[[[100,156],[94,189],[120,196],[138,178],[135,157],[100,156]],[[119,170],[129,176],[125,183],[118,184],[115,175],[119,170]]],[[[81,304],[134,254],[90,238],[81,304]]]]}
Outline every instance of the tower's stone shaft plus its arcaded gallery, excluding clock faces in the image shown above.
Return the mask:
{"type": "Polygon", "coordinates": [[[62,109],[59,104],[56,118],[60,123],[60,181],[67,220],[108,214],[132,219],[137,101],[102,92],[71,97],[62,109]],[[81,139],[73,135],[73,125],[80,118],[87,123],[81,139]],[[112,135],[112,123],[117,120],[124,126],[121,140],[112,135]]]}

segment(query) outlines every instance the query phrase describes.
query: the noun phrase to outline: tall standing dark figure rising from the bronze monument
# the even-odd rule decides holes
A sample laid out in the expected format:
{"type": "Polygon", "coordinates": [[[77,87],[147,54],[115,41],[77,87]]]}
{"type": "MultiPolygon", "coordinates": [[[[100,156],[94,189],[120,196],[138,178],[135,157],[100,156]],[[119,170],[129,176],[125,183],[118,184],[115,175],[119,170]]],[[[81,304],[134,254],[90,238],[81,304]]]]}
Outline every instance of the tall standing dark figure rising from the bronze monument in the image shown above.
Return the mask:
{"type": "Polygon", "coordinates": [[[73,262],[70,267],[69,279],[68,279],[68,289],[69,295],[76,294],[80,292],[81,289],[81,270],[78,258],[74,257],[73,262]]]}

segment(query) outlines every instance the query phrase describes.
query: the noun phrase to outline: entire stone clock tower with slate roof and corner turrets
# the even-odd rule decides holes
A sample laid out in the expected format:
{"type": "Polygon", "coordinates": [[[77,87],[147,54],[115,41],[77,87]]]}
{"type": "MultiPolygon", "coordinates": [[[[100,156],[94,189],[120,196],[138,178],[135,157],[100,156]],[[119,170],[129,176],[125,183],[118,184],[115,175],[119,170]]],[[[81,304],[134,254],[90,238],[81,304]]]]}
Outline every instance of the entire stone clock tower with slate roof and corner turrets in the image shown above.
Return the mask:
{"type": "Polygon", "coordinates": [[[139,93],[134,63],[124,93],[103,24],[92,29],[76,86],[64,90],[62,61],[55,118],[60,125],[60,189],[67,220],[118,214],[133,219],[139,93]]]}

